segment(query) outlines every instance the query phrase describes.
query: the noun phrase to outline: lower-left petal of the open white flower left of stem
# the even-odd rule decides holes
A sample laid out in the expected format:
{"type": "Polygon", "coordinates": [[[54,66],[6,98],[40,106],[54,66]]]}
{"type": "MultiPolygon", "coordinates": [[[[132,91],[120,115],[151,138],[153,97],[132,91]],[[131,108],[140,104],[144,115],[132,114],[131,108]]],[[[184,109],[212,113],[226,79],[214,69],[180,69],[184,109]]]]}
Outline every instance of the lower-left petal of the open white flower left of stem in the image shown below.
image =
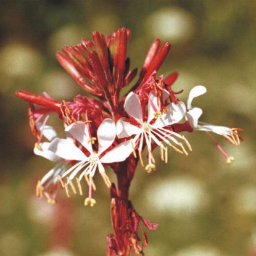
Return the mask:
{"type": "Polygon", "coordinates": [[[49,151],[66,160],[87,160],[88,157],[67,139],[54,139],[49,146],[49,151]]]}

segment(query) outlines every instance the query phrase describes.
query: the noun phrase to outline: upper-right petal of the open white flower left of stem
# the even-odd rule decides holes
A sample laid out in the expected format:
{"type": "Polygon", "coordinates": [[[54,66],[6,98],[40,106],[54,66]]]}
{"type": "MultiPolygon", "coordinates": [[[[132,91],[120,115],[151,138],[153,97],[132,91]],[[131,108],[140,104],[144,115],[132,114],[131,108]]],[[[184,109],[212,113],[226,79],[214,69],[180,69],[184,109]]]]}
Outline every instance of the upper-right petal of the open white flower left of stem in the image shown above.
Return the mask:
{"type": "Polygon", "coordinates": [[[115,140],[115,122],[106,118],[103,120],[97,130],[97,139],[99,143],[98,154],[100,155],[106,149],[108,149],[115,140]]]}

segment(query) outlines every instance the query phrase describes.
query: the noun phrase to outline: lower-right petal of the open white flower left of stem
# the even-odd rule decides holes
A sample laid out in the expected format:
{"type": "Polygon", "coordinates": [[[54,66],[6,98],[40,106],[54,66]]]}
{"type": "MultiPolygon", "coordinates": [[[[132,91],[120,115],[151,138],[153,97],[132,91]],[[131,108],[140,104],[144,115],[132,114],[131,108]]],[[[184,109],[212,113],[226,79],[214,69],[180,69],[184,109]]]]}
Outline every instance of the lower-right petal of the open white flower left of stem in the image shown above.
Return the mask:
{"type": "Polygon", "coordinates": [[[114,149],[101,157],[101,162],[115,163],[124,161],[131,152],[133,152],[132,141],[133,139],[130,139],[129,141],[122,142],[118,146],[114,147],[114,149]]]}

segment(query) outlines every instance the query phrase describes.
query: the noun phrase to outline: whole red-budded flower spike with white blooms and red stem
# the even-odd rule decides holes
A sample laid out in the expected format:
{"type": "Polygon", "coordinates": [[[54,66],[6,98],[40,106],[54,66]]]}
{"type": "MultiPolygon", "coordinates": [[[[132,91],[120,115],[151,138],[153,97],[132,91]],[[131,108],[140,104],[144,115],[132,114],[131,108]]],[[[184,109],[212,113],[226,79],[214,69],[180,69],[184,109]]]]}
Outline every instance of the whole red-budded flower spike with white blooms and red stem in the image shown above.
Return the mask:
{"type": "MultiPolygon", "coordinates": [[[[192,148],[181,133],[198,130],[206,131],[226,163],[231,163],[234,158],[222,149],[212,133],[237,146],[241,140],[238,134],[241,129],[199,121],[202,109],[192,107],[192,101],[206,92],[204,86],[191,89],[187,104],[178,99],[177,95],[183,91],[175,92],[171,88],[178,73],[173,72],[166,78],[157,75],[170,50],[170,44],[165,43],[161,47],[159,39],[152,43],[138,81],[121,97],[122,89],[129,86],[137,74],[136,68],[130,70],[130,59],[126,57],[130,35],[126,28],[107,38],[94,32],[91,40],[82,39],[75,46],[63,47],[62,53],[57,52],[60,65],[87,94],[75,96],[73,101],[57,101],[47,93],[40,96],[17,91],[16,94],[30,102],[31,131],[37,137],[35,154],[57,163],[38,181],[36,194],[46,196],[50,203],[54,203],[58,186],[64,188],[70,197],[71,192],[83,195],[83,184],[86,184],[89,192],[85,205],[93,206],[96,203],[93,177],[99,171],[110,188],[112,183],[106,173],[109,166],[118,179],[118,192],[113,204],[125,204],[127,225],[133,226],[131,222],[136,221],[140,226],[139,221],[146,223],[146,220],[139,217],[128,201],[128,189],[139,161],[150,173],[156,169],[157,159],[153,155],[156,148],[159,148],[160,159],[166,163],[168,147],[188,155],[192,148]],[[88,93],[94,97],[89,97],[88,93]],[[66,138],[59,138],[54,128],[47,124],[52,113],[59,115],[64,123],[66,138]]],[[[117,212],[112,217],[117,216],[117,212]]],[[[115,228],[116,236],[109,238],[113,248],[113,243],[120,244],[120,227],[115,228]]],[[[138,228],[130,230],[125,239],[128,239],[128,244],[133,244],[134,252],[142,251],[139,249],[142,247],[134,246],[138,242],[138,228]]],[[[117,254],[118,249],[114,250],[117,254]]]]}

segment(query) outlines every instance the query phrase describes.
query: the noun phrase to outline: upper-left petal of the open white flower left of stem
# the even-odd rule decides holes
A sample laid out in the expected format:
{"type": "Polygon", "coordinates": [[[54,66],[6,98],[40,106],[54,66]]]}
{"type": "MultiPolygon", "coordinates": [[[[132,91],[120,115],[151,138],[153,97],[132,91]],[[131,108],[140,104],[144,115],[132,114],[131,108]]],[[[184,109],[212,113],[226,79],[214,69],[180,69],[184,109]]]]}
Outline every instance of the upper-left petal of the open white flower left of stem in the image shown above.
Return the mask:
{"type": "Polygon", "coordinates": [[[89,142],[89,127],[83,122],[76,122],[68,125],[65,131],[77,139],[90,153],[93,153],[91,142],[89,142]]]}

